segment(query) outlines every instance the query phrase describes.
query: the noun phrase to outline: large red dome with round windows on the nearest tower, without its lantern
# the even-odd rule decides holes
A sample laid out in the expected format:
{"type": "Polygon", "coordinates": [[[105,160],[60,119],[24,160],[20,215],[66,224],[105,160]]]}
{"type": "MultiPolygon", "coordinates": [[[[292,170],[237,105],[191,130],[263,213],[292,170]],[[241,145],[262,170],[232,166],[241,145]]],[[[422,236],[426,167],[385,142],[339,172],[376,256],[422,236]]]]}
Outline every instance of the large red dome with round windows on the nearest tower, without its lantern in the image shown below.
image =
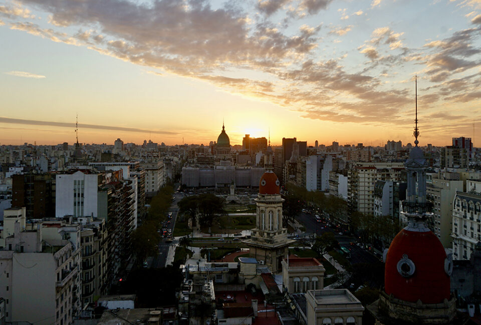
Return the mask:
{"type": "Polygon", "coordinates": [[[422,303],[441,303],[444,298],[449,300],[450,280],[445,271],[445,267],[451,267],[449,262],[434,233],[402,229],[386,255],[384,289],[404,301],[420,299],[422,303]]]}

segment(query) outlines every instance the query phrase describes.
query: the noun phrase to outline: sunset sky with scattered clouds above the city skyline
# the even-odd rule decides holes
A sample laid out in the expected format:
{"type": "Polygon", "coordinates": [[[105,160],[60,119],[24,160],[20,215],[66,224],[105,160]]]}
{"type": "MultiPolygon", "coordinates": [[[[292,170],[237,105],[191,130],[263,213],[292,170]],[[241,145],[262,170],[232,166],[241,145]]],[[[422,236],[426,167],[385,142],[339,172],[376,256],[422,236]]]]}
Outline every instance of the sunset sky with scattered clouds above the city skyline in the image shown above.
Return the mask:
{"type": "Polygon", "coordinates": [[[481,0],[0,0],[0,144],[481,142],[481,0]],[[476,129],[477,128],[477,129],[476,129]]]}

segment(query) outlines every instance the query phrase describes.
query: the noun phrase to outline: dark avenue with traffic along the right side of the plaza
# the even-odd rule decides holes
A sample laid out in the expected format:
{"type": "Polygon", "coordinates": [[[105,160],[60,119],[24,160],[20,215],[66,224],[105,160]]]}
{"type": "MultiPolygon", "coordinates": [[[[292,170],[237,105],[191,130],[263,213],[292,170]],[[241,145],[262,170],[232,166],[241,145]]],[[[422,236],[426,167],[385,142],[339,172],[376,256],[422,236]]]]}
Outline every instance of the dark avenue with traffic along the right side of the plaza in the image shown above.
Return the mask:
{"type": "Polygon", "coordinates": [[[306,227],[306,234],[316,233],[321,235],[326,231],[332,231],[335,234],[335,238],[339,241],[341,246],[346,246],[351,249],[351,264],[356,263],[374,263],[378,262],[379,258],[373,253],[367,251],[364,248],[357,246],[356,244],[351,245],[351,242],[356,243],[355,237],[339,234],[339,230],[336,228],[330,228],[324,222],[318,222],[313,214],[301,212],[296,219],[306,227]]]}

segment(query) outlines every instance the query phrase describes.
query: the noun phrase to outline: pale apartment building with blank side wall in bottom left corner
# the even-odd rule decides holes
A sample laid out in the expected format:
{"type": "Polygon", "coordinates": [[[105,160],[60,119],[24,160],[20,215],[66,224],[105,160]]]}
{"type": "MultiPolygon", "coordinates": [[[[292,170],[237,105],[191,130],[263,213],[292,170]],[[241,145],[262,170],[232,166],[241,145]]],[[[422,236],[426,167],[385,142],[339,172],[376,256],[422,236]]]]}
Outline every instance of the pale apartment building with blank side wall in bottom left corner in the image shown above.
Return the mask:
{"type": "Polygon", "coordinates": [[[0,296],[6,300],[6,321],[71,324],[80,312],[80,236],[76,243],[43,237],[40,224],[29,224],[6,238],[0,250],[0,296]]]}

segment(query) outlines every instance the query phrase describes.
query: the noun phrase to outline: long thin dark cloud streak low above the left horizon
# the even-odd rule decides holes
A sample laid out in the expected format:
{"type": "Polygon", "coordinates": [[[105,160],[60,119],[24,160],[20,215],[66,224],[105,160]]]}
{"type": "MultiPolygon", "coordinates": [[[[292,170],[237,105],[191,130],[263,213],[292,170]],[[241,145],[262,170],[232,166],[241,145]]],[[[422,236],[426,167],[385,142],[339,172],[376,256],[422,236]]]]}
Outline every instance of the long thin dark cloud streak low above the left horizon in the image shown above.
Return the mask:
{"type": "MultiPolygon", "coordinates": [[[[35,119],[11,118],[11,117],[2,117],[2,116],[0,116],[0,123],[26,124],[26,125],[48,125],[48,126],[71,127],[71,128],[75,127],[75,123],[43,121],[43,120],[35,120],[35,119]]],[[[155,134],[179,134],[178,132],[147,130],[147,129],[135,128],[135,127],[122,127],[122,126],[97,125],[97,124],[81,124],[81,123],[79,123],[79,127],[80,128],[113,130],[113,131],[126,131],[126,132],[141,132],[141,133],[155,133],[155,134]]]]}

